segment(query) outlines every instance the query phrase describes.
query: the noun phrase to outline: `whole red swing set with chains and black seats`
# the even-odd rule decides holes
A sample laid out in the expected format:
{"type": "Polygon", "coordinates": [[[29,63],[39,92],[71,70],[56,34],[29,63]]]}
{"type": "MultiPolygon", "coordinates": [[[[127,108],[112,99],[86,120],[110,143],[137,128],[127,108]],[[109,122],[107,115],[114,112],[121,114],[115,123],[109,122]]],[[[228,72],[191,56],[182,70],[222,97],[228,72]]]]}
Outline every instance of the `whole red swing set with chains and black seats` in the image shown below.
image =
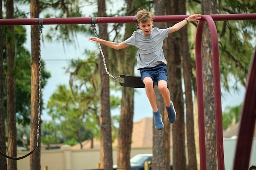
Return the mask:
{"type": "MultiPolygon", "coordinates": [[[[154,22],[180,22],[188,15],[166,15],[155,16],[154,22]]],[[[199,145],[200,145],[200,169],[206,170],[206,148],[205,148],[205,126],[204,126],[204,97],[203,97],[203,74],[202,74],[202,31],[207,22],[212,41],[213,52],[213,82],[214,82],[214,98],[215,98],[215,115],[216,115],[216,143],[217,143],[217,160],[218,170],[225,170],[224,166],[224,151],[223,151],[223,134],[222,134],[222,109],[221,109],[221,93],[220,93],[220,61],[219,61],[219,46],[218,33],[214,21],[228,20],[256,20],[256,13],[253,14],[215,14],[201,15],[201,20],[198,23],[198,28],[195,38],[195,64],[196,64],[196,83],[198,96],[198,124],[199,124],[199,145]]],[[[73,18],[28,18],[28,19],[0,19],[1,25],[36,25],[39,23],[39,33],[41,38],[43,23],[44,24],[92,24],[95,36],[97,32],[95,24],[103,23],[136,23],[135,17],[73,17],[73,18]]],[[[41,41],[41,40],[40,40],[41,41]]],[[[143,88],[145,87],[141,81],[141,77],[137,76],[112,76],[107,69],[105,57],[99,49],[106,73],[114,80],[119,78],[119,83],[124,87],[143,88]]],[[[41,54],[40,54],[41,55],[41,54]]],[[[41,56],[39,55],[39,62],[41,56]]],[[[40,69],[39,69],[40,73],[40,69]]],[[[31,155],[37,148],[39,142],[39,126],[40,126],[40,75],[39,75],[39,101],[38,101],[38,129],[37,129],[37,146],[31,152],[23,157],[10,157],[2,152],[0,155],[8,159],[19,160],[31,155]]],[[[252,148],[252,138],[256,120],[256,49],[249,69],[247,79],[247,89],[243,110],[240,119],[240,130],[238,133],[236,154],[234,157],[233,170],[246,170],[249,167],[249,159],[252,148]]],[[[252,170],[255,166],[250,167],[252,170]]]]}

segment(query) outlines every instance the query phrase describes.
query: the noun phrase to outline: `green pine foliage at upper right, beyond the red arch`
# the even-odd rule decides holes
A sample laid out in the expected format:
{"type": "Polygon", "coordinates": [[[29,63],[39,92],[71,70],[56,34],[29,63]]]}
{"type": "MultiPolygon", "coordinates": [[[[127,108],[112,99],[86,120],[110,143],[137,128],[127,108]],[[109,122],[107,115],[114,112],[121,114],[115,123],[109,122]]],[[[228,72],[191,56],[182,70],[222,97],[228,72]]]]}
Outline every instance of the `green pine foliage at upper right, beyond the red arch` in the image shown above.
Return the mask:
{"type": "MultiPolygon", "coordinates": [[[[256,1],[252,0],[218,0],[217,10],[218,14],[255,13],[255,5],[256,1]]],[[[187,3],[187,9],[189,12],[200,13],[200,3],[190,0],[187,3]]],[[[246,85],[247,73],[255,47],[256,21],[218,21],[216,25],[219,38],[222,87],[227,91],[230,87],[238,89],[238,82],[246,85]],[[236,79],[234,85],[230,85],[231,77],[236,79]]],[[[192,40],[190,46],[194,49],[194,39],[192,40]]],[[[194,64],[192,63],[192,65],[194,64]]]]}

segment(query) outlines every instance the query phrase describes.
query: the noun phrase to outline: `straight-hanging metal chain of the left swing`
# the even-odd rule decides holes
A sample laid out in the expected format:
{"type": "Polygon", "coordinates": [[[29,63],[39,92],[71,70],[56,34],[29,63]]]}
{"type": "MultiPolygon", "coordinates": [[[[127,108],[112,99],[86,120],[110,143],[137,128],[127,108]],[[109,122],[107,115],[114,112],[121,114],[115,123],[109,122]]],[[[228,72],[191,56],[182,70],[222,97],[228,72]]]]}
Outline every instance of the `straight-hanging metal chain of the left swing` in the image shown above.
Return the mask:
{"type": "Polygon", "coordinates": [[[39,131],[40,131],[40,112],[41,112],[41,47],[42,47],[42,28],[43,28],[43,18],[39,18],[39,86],[38,86],[38,122],[37,122],[37,135],[36,141],[37,146],[39,142],[39,131]]]}

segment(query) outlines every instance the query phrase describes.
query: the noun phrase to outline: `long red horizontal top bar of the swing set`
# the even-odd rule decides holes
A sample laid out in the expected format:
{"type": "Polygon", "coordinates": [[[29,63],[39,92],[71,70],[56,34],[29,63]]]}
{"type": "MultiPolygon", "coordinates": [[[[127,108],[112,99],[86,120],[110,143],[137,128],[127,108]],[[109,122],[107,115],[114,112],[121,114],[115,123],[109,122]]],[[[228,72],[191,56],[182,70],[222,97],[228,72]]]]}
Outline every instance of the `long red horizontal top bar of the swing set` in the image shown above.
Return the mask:
{"type": "MultiPolygon", "coordinates": [[[[247,14],[214,14],[210,15],[214,21],[228,20],[256,20],[256,13],[247,14]]],[[[179,22],[189,15],[158,15],[155,16],[154,22],[179,22]]],[[[124,17],[95,17],[96,24],[103,23],[135,23],[134,16],[124,17]]],[[[204,20],[204,15],[202,19],[204,20]]],[[[0,25],[37,25],[39,18],[22,18],[22,19],[0,19],[0,25]]],[[[54,24],[92,24],[91,17],[67,17],[67,18],[43,18],[43,25],[54,24]]]]}

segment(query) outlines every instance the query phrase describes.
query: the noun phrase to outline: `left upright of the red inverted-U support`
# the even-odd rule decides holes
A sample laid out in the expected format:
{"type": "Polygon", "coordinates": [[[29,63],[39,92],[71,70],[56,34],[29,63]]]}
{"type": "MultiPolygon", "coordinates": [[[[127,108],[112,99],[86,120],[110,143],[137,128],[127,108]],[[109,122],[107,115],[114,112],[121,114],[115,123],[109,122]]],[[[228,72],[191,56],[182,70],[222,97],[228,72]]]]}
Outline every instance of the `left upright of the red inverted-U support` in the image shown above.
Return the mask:
{"type": "Polygon", "coordinates": [[[205,148],[205,126],[204,126],[204,89],[203,89],[203,68],[202,68],[202,34],[205,22],[199,22],[195,37],[195,68],[196,87],[198,96],[198,130],[200,169],[206,170],[206,148],[205,148]]]}

